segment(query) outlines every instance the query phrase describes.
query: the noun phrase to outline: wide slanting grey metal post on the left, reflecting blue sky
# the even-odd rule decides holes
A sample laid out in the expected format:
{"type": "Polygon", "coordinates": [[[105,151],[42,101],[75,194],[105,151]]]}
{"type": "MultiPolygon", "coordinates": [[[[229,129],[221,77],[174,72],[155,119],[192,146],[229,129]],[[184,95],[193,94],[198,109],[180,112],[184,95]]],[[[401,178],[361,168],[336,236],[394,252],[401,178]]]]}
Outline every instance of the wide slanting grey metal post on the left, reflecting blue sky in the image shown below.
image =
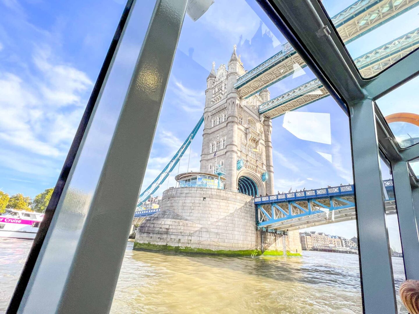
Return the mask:
{"type": "Polygon", "coordinates": [[[109,312],[186,4],[129,11],[18,313],[109,312]]]}

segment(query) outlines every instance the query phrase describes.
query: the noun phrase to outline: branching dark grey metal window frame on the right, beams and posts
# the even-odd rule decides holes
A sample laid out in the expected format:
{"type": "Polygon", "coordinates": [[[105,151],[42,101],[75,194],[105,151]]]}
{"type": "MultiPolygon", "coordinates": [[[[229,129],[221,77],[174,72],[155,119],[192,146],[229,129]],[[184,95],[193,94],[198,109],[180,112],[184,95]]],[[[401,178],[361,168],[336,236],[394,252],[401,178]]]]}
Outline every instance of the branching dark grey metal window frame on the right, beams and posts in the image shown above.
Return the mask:
{"type": "Polygon", "coordinates": [[[365,80],[317,0],[258,2],[336,102],[347,108],[363,310],[365,313],[397,313],[379,158],[388,160],[395,171],[393,180],[399,225],[403,229],[401,242],[406,278],[418,279],[419,240],[415,219],[419,212],[418,182],[407,162],[419,157],[419,145],[402,149],[374,100],[419,74],[419,51],[365,80]],[[330,35],[321,33],[325,26],[332,30],[330,35]]]}

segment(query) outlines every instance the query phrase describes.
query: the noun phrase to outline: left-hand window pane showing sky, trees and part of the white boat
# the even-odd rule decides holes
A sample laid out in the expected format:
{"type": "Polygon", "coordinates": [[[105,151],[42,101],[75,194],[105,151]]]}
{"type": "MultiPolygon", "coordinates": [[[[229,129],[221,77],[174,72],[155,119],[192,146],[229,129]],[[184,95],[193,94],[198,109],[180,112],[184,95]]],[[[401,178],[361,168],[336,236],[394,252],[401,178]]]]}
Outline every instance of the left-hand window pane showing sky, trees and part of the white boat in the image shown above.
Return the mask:
{"type": "Polygon", "coordinates": [[[0,313],[7,309],[125,6],[44,4],[0,3],[0,313]]]}

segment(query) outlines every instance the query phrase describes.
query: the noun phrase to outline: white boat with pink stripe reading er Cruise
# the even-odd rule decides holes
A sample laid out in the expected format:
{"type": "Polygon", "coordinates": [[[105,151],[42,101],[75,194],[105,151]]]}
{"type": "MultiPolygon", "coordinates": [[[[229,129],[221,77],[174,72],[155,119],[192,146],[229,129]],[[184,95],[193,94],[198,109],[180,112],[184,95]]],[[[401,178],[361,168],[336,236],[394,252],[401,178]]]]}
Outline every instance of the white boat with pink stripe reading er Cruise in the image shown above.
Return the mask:
{"type": "Polygon", "coordinates": [[[44,214],[6,208],[0,215],[0,238],[34,239],[44,214]]]}

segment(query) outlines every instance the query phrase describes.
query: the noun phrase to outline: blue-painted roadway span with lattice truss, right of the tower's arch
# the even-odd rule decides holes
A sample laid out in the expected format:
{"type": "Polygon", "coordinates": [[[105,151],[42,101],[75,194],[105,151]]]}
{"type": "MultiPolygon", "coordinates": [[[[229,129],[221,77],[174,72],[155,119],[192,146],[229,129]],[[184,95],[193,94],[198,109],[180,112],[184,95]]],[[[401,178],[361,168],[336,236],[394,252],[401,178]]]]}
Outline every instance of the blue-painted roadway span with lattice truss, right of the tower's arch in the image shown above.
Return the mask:
{"type": "MultiPolygon", "coordinates": [[[[393,180],[384,180],[386,212],[396,214],[393,180]]],[[[355,218],[354,186],[256,197],[256,223],[266,229],[294,230],[355,218]]]]}

